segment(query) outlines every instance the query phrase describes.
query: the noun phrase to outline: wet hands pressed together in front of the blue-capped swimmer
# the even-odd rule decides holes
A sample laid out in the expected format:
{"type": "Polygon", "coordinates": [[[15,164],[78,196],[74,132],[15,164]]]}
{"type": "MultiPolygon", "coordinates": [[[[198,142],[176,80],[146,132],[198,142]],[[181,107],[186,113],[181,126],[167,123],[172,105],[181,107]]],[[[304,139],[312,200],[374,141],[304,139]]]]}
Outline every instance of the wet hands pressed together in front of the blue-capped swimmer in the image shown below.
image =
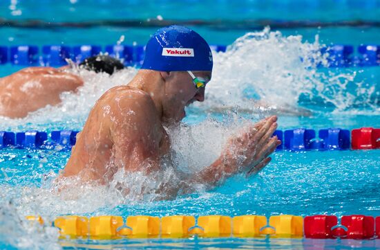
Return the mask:
{"type": "Polygon", "coordinates": [[[220,157],[211,166],[194,176],[196,182],[216,186],[220,180],[239,172],[252,175],[263,169],[271,158],[270,154],[281,144],[272,136],[277,128],[277,116],[270,116],[244,127],[232,136],[220,157]]]}

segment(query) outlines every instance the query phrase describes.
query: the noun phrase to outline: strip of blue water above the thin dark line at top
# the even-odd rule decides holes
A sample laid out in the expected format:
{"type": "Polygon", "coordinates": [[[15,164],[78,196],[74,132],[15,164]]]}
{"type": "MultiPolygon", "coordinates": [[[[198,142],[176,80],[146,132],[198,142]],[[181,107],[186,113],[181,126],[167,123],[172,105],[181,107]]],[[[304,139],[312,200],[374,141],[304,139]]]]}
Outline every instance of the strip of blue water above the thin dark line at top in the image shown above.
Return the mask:
{"type": "Polygon", "coordinates": [[[224,0],[76,0],[61,1],[41,0],[38,4],[31,0],[3,1],[1,9],[7,19],[44,19],[48,21],[87,21],[94,19],[139,19],[163,15],[167,19],[310,19],[319,21],[341,19],[378,20],[380,3],[368,1],[276,1],[263,3],[257,0],[237,2],[224,0]],[[11,8],[15,6],[15,8],[11,8]],[[209,8],[213,11],[209,11],[209,8]],[[205,8],[206,7],[206,8],[205,8]],[[20,11],[17,11],[20,10],[20,11]],[[57,15],[57,10],[60,10],[57,15]],[[297,10],[303,10],[297,11],[297,10]],[[85,12],[91,15],[83,15],[85,12]],[[281,18],[278,13],[281,12],[281,18]],[[111,15],[112,14],[112,15],[111,15]],[[207,14],[207,15],[206,15],[207,14]]]}

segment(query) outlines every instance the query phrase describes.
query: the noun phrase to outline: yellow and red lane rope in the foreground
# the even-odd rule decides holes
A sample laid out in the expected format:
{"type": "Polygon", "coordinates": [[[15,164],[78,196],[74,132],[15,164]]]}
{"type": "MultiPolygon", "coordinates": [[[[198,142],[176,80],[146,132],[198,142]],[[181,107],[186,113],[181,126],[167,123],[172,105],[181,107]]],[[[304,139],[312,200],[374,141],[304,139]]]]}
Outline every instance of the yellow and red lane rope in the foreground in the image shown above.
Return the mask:
{"type": "MultiPolygon", "coordinates": [[[[48,222],[40,216],[26,220],[40,226],[48,222]]],[[[335,215],[205,215],[198,218],[187,215],[153,217],[135,215],[126,217],[102,215],[84,217],[66,215],[57,217],[53,224],[61,237],[111,240],[118,238],[311,238],[311,239],[380,239],[380,217],[344,215],[339,222],[335,215]]],[[[32,225],[30,225],[32,226],[32,225]]]]}

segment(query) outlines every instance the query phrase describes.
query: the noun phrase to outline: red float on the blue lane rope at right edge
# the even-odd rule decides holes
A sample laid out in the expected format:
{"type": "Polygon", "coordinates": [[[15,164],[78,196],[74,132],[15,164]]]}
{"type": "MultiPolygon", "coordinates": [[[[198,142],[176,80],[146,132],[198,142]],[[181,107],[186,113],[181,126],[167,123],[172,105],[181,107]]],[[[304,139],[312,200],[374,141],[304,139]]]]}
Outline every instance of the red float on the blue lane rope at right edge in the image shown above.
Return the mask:
{"type": "Polygon", "coordinates": [[[352,130],[351,147],[353,150],[370,150],[380,148],[380,129],[362,127],[352,130]]]}

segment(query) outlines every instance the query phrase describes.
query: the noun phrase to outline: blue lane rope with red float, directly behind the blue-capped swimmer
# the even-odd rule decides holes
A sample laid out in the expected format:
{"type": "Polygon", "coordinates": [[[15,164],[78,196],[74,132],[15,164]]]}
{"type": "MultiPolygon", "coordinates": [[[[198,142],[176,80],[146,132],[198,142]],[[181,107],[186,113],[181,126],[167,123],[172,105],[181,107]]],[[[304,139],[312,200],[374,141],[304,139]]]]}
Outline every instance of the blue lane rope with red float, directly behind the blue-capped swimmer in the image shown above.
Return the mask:
{"type": "MultiPolygon", "coordinates": [[[[39,132],[0,131],[1,148],[41,148],[70,150],[76,143],[79,132],[75,130],[57,130],[39,132]]],[[[274,135],[282,142],[277,150],[308,151],[308,150],[371,150],[380,148],[380,128],[362,127],[354,130],[328,128],[309,130],[296,128],[292,130],[276,130],[274,135]]]]}

